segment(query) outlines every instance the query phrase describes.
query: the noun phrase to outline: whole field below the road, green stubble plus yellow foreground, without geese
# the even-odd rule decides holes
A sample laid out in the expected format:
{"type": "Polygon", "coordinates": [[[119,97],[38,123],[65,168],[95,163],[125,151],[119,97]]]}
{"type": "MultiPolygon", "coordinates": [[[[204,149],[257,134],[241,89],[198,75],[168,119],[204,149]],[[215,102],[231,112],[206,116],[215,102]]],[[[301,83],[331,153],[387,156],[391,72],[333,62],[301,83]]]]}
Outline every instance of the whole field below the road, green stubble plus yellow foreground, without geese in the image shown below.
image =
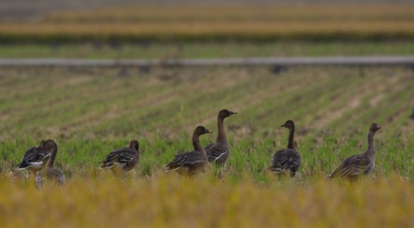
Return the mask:
{"type": "Polygon", "coordinates": [[[19,226],[12,214],[28,218],[29,227],[39,226],[50,207],[60,208],[47,217],[59,227],[413,225],[411,69],[126,70],[127,76],[118,76],[119,68],[1,68],[2,227],[19,226]],[[203,145],[215,141],[222,108],[238,112],[225,121],[232,149],[227,166],[207,167],[194,180],[166,175],[164,166],[173,156],[192,149],[197,125],[213,130],[201,136],[203,145]],[[295,180],[279,180],[266,167],[273,152],[286,147],[288,131],[280,124],[288,119],[297,126],[302,167],[295,180]],[[374,121],[382,128],[375,136],[373,175],[355,186],[326,182],[344,158],[364,151],[374,121]],[[57,141],[55,164],[67,177],[64,189],[36,191],[32,174],[13,168],[26,149],[46,138],[57,141]],[[132,138],[140,142],[139,165],[123,182],[112,180],[97,163],[132,138]],[[24,195],[31,199],[21,202],[24,195]],[[288,198],[297,200],[289,205],[288,198]],[[356,214],[348,213],[351,208],[356,214]],[[110,217],[114,214],[120,220],[110,217]],[[371,214],[375,219],[367,223],[371,214]]]}

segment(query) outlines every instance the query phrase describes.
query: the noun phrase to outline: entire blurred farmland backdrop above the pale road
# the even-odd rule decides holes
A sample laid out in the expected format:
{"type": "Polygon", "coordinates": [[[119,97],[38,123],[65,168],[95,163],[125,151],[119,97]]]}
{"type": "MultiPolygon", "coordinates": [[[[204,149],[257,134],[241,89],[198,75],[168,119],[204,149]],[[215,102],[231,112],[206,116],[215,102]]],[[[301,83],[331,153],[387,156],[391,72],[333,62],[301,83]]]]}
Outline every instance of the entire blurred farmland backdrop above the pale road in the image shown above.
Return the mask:
{"type": "Polygon", "coordinates": [[[0,15],[1,58],[413,54],[411,1],[4,0],[0,15]]]}

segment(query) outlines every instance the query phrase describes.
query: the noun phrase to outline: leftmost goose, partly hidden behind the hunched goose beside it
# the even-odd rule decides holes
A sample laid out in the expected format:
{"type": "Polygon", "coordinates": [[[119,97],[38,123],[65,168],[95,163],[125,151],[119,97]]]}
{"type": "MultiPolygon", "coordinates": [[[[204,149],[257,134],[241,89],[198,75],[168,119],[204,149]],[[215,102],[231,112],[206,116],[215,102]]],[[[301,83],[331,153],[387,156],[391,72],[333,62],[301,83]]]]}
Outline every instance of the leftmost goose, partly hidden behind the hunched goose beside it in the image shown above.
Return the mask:
{"type": "MultiPolygon", "coordinates": [[[[40,145],[44,143],[41,141],[40,145]]],[[[36,173],[46,165],[49,158],[49,153],[46,149],[41,149],[39,146],[29,148],[23,156],[21,163],[17,164],[17,169],[29,169],[31,172],[36,173]]]]}

